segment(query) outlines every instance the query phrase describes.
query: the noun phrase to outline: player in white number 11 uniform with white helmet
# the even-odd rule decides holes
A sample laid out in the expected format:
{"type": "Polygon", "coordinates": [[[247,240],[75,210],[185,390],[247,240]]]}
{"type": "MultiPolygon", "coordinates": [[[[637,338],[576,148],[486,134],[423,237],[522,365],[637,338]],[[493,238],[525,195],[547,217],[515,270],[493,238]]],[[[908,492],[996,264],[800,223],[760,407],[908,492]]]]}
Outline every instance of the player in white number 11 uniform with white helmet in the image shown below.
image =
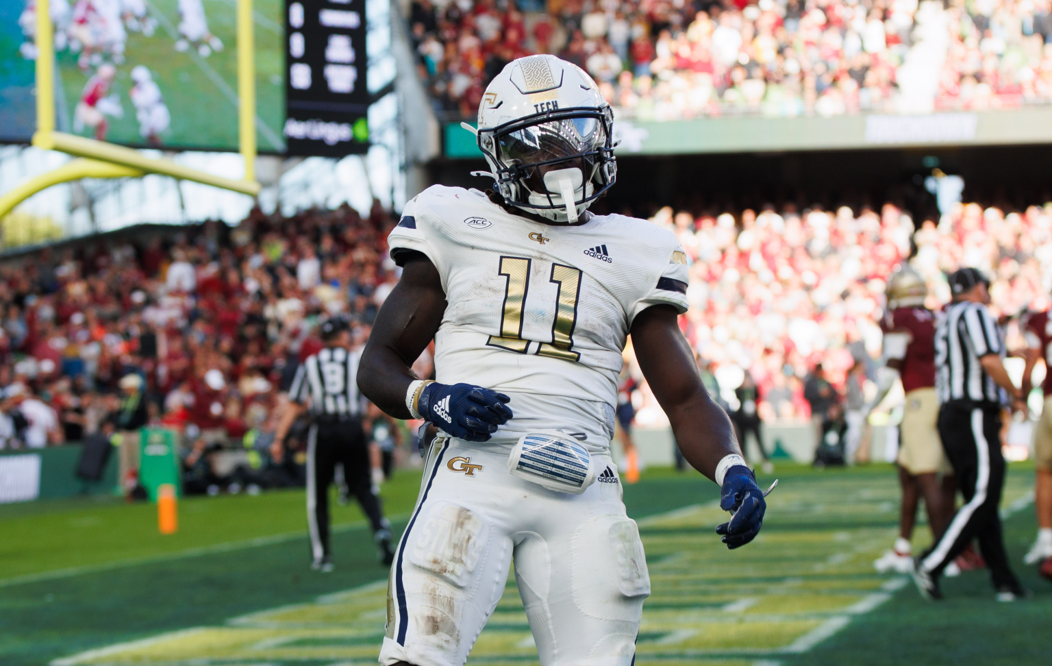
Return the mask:
{"type": "Polygon", "coordinates": [[[541,664],[632,662],[650,581],[609,455],[629,335],[684,456],[734,511],[716,531],[735,548],[760,530],[763,492],[677,324],[683,249],[587,211],[614,181],[611,120],[580,67],[509,63],[479,110],[497,191],[430,187],[390,234],[404,270],[358,382],[440,432],[391,568],[384,666],[462,666],[512,560],[541,664]],[[421,380],[432,338],[438,381],[421,380]]]}

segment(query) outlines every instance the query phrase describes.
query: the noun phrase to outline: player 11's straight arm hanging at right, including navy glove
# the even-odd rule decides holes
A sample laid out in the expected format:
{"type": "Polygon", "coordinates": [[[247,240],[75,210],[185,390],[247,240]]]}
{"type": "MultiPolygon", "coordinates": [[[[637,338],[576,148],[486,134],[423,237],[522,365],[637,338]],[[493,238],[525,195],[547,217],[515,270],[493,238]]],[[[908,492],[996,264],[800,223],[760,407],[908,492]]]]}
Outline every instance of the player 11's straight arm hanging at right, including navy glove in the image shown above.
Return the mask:
{"type": "Polygon", "coordinates": [[[755,539],[767,503],[755,476],[745,465],[727,412],[717,405],[697,374],[690,345],[670,305],[653,305],[632,321],[630,335],[640,369],[668,416],[683,457],[722,486],[720,507],[733,511],[716,527],[728,548],[755,539]]]}

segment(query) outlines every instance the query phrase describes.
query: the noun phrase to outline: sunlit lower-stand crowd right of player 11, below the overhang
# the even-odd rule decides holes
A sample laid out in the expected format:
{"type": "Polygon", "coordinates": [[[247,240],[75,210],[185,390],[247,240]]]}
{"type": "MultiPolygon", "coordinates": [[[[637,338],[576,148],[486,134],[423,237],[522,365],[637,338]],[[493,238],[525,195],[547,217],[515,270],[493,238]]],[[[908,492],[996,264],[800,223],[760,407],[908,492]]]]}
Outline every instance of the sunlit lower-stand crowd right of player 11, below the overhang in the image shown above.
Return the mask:
{"type": "MultiPolygon", "coordinates": [[[[673,229],[694,260],[688,339],[724,380],[732,406],[733,388],[745,374],[751,377],[765,421],[810,417],[804,384],[818,363],[842,392],[856,364],[872,375],[885,281],[912,245],[910,262],[929,283],[932,309],[949,302],[945,275],[960,265],[992,277],[991,309],[998,316],[1050,305],[1043,276],[1052,275],[1052,205],[1006,214],[957,204],[940,219],[919,221],[891,203],[701,215],[665,207],[651,221],[673,229]]],[[[1008,344],[1024,346],[1014,320],[1008,344]]],[[[638,419],[662,418],[647,396],[638,419]]]]}

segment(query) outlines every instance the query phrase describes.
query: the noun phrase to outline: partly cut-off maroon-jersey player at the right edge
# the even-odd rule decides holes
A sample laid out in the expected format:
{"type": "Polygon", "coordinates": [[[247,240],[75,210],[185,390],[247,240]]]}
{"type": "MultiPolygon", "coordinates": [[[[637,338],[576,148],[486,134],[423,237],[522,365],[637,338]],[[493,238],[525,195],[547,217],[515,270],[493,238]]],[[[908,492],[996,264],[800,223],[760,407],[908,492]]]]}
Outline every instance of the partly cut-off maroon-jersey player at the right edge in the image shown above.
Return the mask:
{"type": "Polygon", "coordinates": [[[1045,381],[1041,382],[1041,392],[1045,393],[1045,405],[1041,418],[1034,431],[1034,504],[1037,508],[1037,541],[1030,552],[1024,557],[1027,564],[1037,564],[1048,561],[1040,568],[1041,576],[1052,578],[1052,367],[1049,367],[1052,355],[1052,318],[1049,312],[1032,312],[1023,321],[1024,335],[1027,338],[1027,367],[1023,372],[1023,395],[1030,395],[1030,374],[1038,360],[1045,362],[1045,381]]]}

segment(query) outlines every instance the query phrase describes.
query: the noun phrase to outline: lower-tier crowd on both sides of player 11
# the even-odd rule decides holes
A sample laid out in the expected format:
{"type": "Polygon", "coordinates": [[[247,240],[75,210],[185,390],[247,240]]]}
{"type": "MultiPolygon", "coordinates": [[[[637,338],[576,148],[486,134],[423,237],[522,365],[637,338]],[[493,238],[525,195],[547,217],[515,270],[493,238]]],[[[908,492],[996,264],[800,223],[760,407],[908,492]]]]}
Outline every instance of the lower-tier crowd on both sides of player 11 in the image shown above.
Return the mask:
{"type": "MultiPolygon", "coordinates": [[[[673,229],[692,261],[683,325],[704,369],[730,409],[735,389],[755,385],[768,422],[810,418],[806,385],[820,363],[822,381],[849,399],[858,392],[865,372],[852,385],[850,371],[872,370],[885,280],[912,245],[933,308],[949,300],[944,275],[958,265],[993,277],[998,315],[1049,306],[1052,204],[1007,214],[958,204],[920,221],[891,203],[664,207],[650,220],[673,229]]],[[[210,222],[139,245],[88,240],[8,260],[0,448],[153,423],[186,435],[187,469],[202,479],[209,451],[244,444],[265,457],[258,444],[275,430],[280,392],[321,345],[316,324],[339,314],[358,344],[368,337],[398,279],[385,253],[393,224],[379,204],[365,218],[346,205],[292,218],[255,210],[236,227],[210,222]]],[[[1012,326],[1009,346],[1021,346],[1012,326]]],[[[662,424],[645,382],[634,400],[636,423],[662,424]]]]}

